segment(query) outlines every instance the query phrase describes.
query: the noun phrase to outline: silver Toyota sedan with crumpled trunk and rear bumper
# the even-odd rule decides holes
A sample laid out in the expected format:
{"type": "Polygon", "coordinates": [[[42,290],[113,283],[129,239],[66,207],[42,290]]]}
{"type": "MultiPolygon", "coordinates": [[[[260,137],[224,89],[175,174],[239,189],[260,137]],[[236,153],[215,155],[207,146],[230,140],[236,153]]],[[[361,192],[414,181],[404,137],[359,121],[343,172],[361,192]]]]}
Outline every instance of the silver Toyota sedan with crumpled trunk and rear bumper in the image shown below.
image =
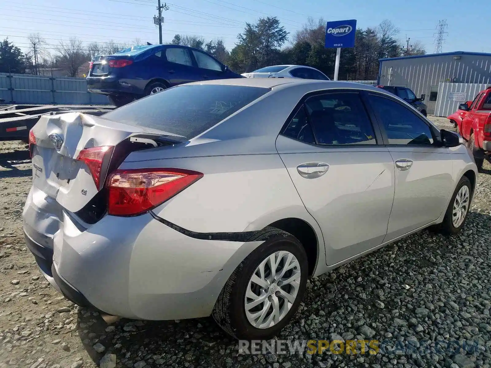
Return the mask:
{"type": "Polygon", "coordinates": [[[166,89],[29,133],[29,249],[104,315],[213,315],[241,339],[290,322],[309,277],[429,226],[456,234],[472,156],[398,97],[304,79],[166,89]]]}

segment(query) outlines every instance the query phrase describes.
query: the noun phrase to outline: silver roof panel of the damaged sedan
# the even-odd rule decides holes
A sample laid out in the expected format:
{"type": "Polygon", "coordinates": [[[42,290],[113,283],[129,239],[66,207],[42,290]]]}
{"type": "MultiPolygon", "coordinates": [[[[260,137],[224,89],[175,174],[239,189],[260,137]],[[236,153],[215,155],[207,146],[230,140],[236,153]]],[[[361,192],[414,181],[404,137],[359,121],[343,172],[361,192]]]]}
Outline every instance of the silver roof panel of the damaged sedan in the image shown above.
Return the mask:
{"type": "Polygon", "coordinates": [[[278,88],[283,89],[283,88],[291,88],[300,85],[302,86],[310,85],[313,91],[319,89],[355,88],[355,89],[377,91],[392,96],[392,94],[386,92],[381,88],[377,88],[374,86],[361,84],[361,83],[336,81],[336,80],[296,79],[296,78],[234,78],[234,79],[203,80],[200,82],[188,83],[188,85],[189,84],[241,85],[241,86],[248,86],[248,87],[263,87],[263,88],[270,88],[270,89],[278,89],[278,88]]]}

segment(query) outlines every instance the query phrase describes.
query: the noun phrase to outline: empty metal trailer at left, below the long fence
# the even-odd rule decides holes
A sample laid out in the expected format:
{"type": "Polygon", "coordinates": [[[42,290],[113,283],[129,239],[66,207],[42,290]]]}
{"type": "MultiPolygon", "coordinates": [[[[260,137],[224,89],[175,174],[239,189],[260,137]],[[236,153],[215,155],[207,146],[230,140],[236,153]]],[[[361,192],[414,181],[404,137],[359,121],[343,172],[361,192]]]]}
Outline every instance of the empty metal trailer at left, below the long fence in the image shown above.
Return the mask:
{"type": "Polygon", "coordinates": [[[113,106],[87,105],[10,105],[0,107],[0,140],[28,139],[29,131],[43,115],[84,112],[100,116],[113,106]]]}

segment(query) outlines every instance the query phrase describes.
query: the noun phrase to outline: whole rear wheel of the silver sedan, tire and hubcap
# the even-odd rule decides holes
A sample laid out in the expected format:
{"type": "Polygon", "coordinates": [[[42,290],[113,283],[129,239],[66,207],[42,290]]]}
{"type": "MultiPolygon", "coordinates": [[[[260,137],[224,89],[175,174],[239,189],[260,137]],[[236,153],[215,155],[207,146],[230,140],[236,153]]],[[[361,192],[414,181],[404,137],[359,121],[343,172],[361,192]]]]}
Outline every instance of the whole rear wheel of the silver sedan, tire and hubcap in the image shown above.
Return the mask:
{"type": "Polygon", "coordinates": [[[272,227],[249,239],[261,240],[227,280],[212,313],[237,339],[273,338],[292,319],[305,292],[308,263],[299,240],[272,227]]]}

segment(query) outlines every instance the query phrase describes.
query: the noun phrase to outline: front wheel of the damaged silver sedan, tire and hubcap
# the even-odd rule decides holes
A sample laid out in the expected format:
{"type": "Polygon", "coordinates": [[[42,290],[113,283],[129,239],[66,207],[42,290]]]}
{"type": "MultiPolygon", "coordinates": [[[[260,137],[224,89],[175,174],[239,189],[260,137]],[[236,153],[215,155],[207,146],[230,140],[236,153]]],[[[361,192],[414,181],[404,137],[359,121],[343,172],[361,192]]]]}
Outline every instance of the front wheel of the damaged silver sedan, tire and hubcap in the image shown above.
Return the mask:
{"type": "Polygon", "coordinates": [[[472,185],[469,179],[463,176],[455,188],[454,195],[445,212],[445,217],[438,226],[440,233],[453,235],[462,230],[467,214],[469,213],[471,196],[472,185]]]}

